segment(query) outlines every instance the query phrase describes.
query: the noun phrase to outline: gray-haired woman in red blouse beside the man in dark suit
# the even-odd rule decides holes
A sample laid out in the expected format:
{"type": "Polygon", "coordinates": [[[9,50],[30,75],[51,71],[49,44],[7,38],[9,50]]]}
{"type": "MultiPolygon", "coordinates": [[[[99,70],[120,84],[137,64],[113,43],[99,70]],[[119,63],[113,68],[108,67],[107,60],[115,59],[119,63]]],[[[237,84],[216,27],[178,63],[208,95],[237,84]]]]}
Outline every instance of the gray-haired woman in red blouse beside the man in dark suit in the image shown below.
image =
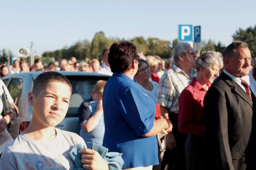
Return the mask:
{"type": "Polygon", "coordinates": [[[207,149],[203,141],[203,99],[222,67],[221,53],[202,53],[196,61],[197,77],[193,78],[180,95],[178,126],[180,132],[188,134],[185,143],[187,170],[203,170],[208,164],[207,149]]]}

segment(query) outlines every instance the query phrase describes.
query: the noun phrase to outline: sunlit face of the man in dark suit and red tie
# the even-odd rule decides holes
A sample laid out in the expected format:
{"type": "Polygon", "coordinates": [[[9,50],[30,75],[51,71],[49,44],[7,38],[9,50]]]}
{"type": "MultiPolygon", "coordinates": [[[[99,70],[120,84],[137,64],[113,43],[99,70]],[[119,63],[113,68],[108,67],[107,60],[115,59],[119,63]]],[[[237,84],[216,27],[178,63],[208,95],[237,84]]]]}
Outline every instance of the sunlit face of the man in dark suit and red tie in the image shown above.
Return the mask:
{"type": "Polygon", "coordinates": [[[251,66],[251,52],[248,48],[238,48],[237,54],[233,55],[231,58],[225,58],[225,70],[230,74],[241,78],[248,75],[251,66]]]}

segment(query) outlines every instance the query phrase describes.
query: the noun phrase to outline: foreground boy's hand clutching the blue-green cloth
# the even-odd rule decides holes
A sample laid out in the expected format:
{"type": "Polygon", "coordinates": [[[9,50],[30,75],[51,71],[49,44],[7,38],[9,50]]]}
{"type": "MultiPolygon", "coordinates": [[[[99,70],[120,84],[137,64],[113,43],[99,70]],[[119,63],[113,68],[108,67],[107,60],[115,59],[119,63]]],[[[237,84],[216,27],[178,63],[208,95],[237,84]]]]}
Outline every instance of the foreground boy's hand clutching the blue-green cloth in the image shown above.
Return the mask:
{"type": "Polygon", "coordinates": [[[82,155],[82,163],[84,169],[88,170],[108,170],[108,163],[100,156],[100,154],[88,148],[81,149],[78,153],[87,153],[82,155]]]}

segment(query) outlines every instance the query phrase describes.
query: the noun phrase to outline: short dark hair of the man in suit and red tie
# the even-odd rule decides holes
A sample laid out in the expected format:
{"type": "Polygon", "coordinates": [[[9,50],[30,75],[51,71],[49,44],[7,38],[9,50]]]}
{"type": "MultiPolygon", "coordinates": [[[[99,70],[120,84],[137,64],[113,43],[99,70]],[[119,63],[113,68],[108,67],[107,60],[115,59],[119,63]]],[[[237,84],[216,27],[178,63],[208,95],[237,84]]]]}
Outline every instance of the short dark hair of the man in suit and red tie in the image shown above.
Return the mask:
{"type": "Polygon", "coordinates": [[[225,49],[223,58],[232,57],[237,54],[238,48],[248,48],[248,45],[243,41],[234,41],[225,49]]]}

